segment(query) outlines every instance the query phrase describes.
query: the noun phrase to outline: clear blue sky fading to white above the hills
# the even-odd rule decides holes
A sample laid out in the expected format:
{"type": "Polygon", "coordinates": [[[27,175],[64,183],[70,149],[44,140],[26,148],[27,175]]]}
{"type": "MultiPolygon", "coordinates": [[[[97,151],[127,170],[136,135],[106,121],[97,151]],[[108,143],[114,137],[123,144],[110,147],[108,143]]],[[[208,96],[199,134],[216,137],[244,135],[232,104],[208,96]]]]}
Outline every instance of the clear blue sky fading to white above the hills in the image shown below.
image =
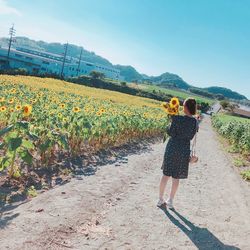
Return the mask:
{"type": "Polygon", "coordinates": [[[19,36],[250,98],[250,0],[0,0],[0,36],[12,23],[19,36]]]}

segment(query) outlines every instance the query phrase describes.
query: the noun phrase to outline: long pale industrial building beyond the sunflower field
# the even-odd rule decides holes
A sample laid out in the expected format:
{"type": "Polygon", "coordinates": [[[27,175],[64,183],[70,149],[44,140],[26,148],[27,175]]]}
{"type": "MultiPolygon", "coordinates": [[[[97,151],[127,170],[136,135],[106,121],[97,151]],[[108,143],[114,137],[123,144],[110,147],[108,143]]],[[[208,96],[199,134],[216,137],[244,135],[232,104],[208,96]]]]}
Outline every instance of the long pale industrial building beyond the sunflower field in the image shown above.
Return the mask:
{"type": "MultiPolygon", "coordinates": [[[[7,48],[0,48],[0,69],[7,62],[7,48]]],[[[9,66],[11,68],[25,68],[29,73],[61,75],[63,56],[48,52],[36,51],[27,48],[11,49],[9,54],[9,66]]],[[[67,57],[63,69],[65,78],[80,75],[89,75],[91,71],[98,71],[111,79],[121,79],[120,71],[114,67],[107,67],[67,57]],[[79,69],[79,70],[78,70],[79,69]]]]}

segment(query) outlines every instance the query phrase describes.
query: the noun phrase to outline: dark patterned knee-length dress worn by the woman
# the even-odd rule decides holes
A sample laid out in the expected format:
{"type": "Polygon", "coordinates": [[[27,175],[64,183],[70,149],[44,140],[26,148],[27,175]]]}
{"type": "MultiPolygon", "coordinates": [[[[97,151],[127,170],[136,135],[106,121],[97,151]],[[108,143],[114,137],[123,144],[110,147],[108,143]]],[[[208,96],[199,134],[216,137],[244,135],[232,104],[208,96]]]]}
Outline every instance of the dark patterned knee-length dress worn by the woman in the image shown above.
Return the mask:
{"type": "Polygon", "coordinates": [[[197,127],[197,120],[189,116],[173,116],[167,133],[170,136],[162,164],[163,174],[176,179],[188,177],[190,141],[197,127]]]}

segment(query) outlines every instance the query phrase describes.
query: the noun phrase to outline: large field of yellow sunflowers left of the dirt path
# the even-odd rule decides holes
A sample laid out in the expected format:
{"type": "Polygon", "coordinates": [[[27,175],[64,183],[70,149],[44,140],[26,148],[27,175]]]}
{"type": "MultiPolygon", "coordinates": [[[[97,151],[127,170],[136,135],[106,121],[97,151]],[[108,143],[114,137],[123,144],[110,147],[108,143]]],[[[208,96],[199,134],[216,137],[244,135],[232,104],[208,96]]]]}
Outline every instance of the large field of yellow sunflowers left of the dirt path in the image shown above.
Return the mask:
{"type": "Polygon", "coordinates": [[[0,76],[0,171],[48,166],[64,157],[162,134],[154,100],[49,78],[0,76]]]}

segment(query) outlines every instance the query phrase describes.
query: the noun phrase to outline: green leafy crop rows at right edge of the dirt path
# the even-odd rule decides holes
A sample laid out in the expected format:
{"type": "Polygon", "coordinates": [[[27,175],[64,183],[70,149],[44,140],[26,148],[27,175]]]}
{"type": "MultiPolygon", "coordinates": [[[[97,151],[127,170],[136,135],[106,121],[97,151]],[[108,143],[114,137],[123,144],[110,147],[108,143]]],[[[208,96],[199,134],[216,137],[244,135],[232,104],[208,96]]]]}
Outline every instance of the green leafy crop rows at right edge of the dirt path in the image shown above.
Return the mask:
{"type": "MultiPolygon", "coordinates": [[[[212,124],[219,134],[225,137],[232,145],[232,152],[243,155],[247,162],[250,161],[250,121],[230,115],[218,114],[212,118],[212,124]]],[[[244,165],[245,160],[237,159],[239,165],[244,165]]],[[[248,163],[246,163],[248,165],[248,163]]],[[[250,170],[242,171],[244,179],[250,180],[250,170]]]]}

